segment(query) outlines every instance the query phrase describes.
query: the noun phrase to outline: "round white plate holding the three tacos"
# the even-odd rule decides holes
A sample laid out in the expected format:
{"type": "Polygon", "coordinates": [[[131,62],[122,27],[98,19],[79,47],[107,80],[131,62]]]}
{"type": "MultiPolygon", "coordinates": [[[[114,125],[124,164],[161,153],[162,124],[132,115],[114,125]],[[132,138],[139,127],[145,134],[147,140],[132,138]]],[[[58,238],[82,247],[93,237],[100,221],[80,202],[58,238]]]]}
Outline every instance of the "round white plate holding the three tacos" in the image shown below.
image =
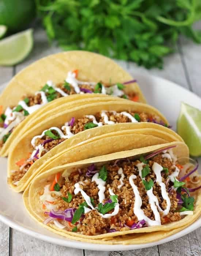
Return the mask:
{"type": "MultiPolygon", "coordinates": [[[[135,78],[137,78],[148,103],[158,108],[167,117],[173,129],[176,128],[176,121],[182,101],[201,109],[201,98],[175,83],[151,75],[142,76],[138,73],[135,74],[135,78]]],[[[199,162],[201,164],[201,159],[199,159],[199,162]]],[[[64,237],[51,233],[49,230],[37,225],[37,223],[29,217],[23,206],[22,195],[17,194],[8,188],[6,174],[7,159],[0,158],[0,166],[2,174],[0,179],[0,220],[14,229],[47,242],[80,249],[124,251],[163,244],[201,227],[200,218],[177,234],[148,244],[103,246],[67,240],[64,237]]]]}

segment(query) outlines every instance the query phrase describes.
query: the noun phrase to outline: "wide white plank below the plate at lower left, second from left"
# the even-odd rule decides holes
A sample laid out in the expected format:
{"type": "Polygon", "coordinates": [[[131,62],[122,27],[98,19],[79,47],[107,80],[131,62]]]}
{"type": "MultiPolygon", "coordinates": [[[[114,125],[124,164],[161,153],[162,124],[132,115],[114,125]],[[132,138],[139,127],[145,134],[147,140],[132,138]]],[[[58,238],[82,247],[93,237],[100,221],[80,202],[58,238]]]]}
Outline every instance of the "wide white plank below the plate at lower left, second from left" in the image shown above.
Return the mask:
{"type": "MultiPolygon", "coordinates": [[[[37,225],[37,224],[36,224],[37,225]]],[[[60,245],[50,244],[45,241],[27,236],[17,230],[12,230],[12,251],[13,256],[82,256],[82,250],[68,248],[60,245]]]]}

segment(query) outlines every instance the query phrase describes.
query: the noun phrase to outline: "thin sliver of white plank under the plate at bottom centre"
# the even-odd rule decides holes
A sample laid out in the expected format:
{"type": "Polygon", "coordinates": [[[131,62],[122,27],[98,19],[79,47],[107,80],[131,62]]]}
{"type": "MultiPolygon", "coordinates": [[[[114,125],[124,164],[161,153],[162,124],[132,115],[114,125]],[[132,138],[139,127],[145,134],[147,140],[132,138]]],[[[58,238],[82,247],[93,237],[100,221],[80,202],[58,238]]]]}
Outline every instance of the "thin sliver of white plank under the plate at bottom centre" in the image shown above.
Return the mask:
{"type": "MultiPolygon", "coordinates": [[[[157,246],[152,246],[145,249],[119,252],[98,252],[85,250],[85,256],[158,256],[157,246]]],[[[164,254],[165,256],[166,254],[164,254]]],[[[161,254],[160,256],[163,256],[161,254]]]]}

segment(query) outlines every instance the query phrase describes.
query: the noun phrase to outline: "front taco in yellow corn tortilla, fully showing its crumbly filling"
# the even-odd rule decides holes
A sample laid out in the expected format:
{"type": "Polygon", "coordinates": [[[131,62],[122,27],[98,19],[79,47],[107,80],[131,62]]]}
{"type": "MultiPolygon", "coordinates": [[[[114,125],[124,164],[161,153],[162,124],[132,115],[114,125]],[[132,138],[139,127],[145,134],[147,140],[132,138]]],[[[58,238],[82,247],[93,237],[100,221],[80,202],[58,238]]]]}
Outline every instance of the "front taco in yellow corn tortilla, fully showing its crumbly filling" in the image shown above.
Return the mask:
{"type": "Polygon", "coordinates": [[[172,142],[54,167],[34,178],[23,199],[31,217],[69,239],[156,241],[200,216],[197,169],[186,144],[172,142]]]}

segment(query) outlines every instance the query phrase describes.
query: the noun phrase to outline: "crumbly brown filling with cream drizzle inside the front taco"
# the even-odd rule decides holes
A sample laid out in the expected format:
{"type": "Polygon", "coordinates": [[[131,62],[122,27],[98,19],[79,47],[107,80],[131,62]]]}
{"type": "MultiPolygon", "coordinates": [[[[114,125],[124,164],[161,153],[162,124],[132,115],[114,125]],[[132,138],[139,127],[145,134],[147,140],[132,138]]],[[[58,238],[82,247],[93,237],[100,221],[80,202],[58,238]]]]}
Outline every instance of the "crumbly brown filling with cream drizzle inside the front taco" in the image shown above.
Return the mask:
{"type": "Polygon", "coordinates": [[[57,173],[39,193],[43,223],[94,236],[193,215],[190,193],[201,186],[191,188],[189,175],[199,182],[198,166],[186,174],[189,163],[179,165],[172,147],[57,173]],[[182,169],[185,175],[180,177],[182,169]]]}

